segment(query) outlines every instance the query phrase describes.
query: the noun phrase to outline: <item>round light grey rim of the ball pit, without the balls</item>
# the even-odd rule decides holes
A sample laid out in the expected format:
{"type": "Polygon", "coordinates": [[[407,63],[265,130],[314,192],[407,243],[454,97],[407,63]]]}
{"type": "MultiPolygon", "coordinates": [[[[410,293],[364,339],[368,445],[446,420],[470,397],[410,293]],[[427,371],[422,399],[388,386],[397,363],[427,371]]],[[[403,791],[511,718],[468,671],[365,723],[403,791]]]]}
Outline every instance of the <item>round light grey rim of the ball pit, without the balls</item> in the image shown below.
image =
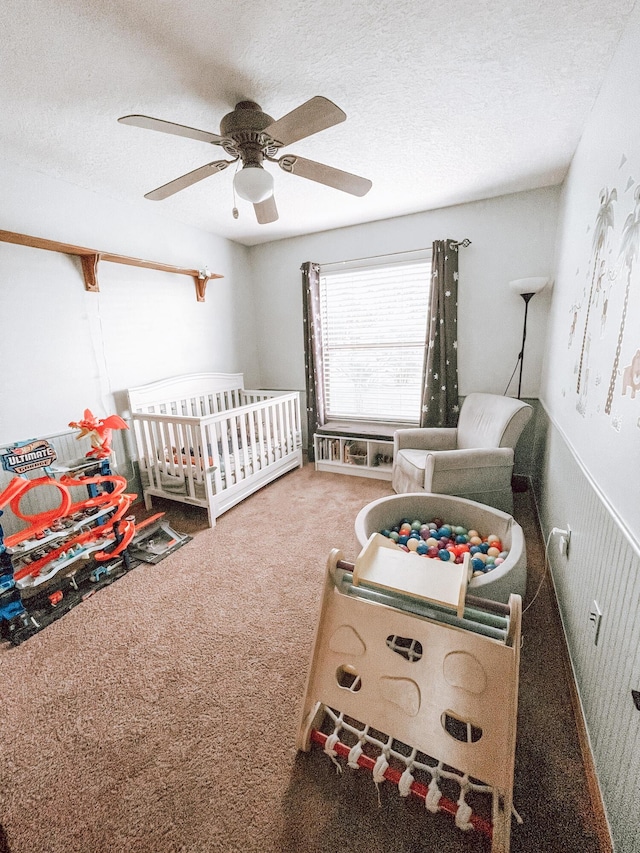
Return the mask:
{"type": "MultiPolygon", "coordinates": [[[[524,533],[512,516],[485,504],[452,495],[427,492],[391,495],[367,504],[358,513],[355,522],[358,549],[364,548],[372,533],[391,528],[402,518],[427,522],[433,518],[442,518],[445,522],[478,530],[482,536],[495,533],[504,549],[509,551],[509,556],[497,568],[481,577],[472,578],[469,593],[507,603],[513,592],[524,600],[527,554],[524,533]]],[[[446,571],[446,563],[443,563],[443,570],[446,571]]]]}

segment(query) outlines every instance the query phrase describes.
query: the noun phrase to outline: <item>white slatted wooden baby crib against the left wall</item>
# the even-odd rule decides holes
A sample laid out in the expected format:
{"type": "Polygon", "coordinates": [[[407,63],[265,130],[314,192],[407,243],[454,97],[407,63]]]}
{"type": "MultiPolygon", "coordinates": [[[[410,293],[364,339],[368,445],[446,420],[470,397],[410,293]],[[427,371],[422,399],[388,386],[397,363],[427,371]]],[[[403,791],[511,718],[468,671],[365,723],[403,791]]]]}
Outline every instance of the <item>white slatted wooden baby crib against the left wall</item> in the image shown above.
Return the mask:
{"type": "Polygon", "coordinates": [[[216,518],[302,465],[300,395],[249,391],[241,373],[177,376],[128,390],[147,509],[153,496],[216,518]]]}

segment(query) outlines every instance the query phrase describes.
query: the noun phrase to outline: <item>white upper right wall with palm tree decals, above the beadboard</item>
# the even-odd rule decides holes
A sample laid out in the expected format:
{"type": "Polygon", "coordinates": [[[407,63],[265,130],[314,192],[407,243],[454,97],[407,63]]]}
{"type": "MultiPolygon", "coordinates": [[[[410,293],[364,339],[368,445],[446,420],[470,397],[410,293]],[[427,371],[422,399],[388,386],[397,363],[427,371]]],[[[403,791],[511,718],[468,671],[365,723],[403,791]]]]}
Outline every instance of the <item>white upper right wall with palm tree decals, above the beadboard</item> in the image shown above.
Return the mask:
{"type": "Polygon", "coordinates": [[[640,541],[640,355],[633,387],[623,378],[640,352],[638,50],[640,7],[619,45],[565,182],[542,391],[551,418],[636,541],[640,541]],[[596,254],[601,195],[614,190],[612,227],[603,229],[605,239],[596,254]]]}

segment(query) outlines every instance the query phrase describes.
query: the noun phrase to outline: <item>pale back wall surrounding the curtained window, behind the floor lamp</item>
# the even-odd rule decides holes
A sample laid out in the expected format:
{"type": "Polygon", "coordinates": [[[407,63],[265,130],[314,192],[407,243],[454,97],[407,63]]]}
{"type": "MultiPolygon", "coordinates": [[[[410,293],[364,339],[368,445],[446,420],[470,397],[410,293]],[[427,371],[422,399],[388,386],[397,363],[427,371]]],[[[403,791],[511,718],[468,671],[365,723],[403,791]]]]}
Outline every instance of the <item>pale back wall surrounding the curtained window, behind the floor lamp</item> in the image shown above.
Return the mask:
{"type": "MultiPolygon", "coordinates": [[[[459,259],[460,393],[503,393],[520,351],[524,314],[508,282],[551,275],[558,197],[558,188],[547,188],[253,247],[264,384],[304,389],[304,261],[330,263],[468,237],[472,245],[459,259]]],[[[544,291],[529,306],[524,397],[538,394],[548,306],[544,291]]],[[[517,393],[517,377],[510,393],[517,393]]]]}

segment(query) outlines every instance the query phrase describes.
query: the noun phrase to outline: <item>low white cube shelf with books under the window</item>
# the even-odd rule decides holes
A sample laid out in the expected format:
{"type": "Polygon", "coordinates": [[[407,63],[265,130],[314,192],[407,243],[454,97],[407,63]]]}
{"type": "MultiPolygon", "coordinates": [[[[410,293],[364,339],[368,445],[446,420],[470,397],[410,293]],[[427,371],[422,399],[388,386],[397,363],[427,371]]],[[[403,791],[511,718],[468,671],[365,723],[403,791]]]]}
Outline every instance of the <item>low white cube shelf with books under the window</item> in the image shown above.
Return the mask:
{"type": "Polygon", "coordinates": [[[349,435],[313,436],[316,471],[332,471],[374,480],[391,480],[393,439],[349,435]]]}

